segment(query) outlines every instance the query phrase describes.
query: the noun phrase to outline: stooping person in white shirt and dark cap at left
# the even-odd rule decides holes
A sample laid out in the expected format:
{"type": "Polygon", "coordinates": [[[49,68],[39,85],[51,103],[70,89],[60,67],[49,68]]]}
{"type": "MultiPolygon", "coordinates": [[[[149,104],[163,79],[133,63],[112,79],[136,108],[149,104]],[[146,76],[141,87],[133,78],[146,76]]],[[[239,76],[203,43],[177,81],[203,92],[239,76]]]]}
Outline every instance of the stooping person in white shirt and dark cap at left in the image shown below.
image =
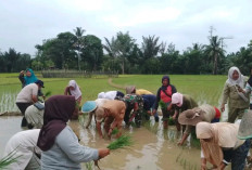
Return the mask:
{"type": "MultiPolygon", "coordinates": [[[[16,106],[21,110],[22,115],[25,115],[25,110],[32,104],[38,102],[38,90],[43,87],[43,81],[37,80],[34,83],[24,87],[16,96],[16,106]]],[[[23,117],[22,127],[27,126],[27,120],[23,117]]]]}

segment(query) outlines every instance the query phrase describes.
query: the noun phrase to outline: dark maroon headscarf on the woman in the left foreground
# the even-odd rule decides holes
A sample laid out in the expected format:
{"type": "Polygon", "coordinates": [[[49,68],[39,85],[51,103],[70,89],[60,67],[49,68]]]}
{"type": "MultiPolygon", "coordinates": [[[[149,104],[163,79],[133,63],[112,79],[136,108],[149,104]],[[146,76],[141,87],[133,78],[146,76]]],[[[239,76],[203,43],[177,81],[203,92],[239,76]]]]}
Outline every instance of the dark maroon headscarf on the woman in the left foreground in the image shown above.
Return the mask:
{"type": "Polygon", "coordinates": [[[45,103],[43,126],[38,136],[38,147],[46,152],[52,147],[56,135],[66,127],[75,110],[75,97],[54,95],[45,103]]]}

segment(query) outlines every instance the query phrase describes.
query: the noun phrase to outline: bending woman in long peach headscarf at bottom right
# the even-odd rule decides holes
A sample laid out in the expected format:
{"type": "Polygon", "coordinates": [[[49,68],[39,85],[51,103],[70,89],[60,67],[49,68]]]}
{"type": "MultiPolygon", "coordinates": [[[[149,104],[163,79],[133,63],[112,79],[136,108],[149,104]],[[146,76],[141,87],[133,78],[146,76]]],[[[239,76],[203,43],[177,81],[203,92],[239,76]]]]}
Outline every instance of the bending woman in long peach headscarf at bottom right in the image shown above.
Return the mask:
{"type": "MultiPolygon", "coordinates": [[[[223,170],[229,162],[232,170],[244,169],[250,141],[239,140],[238,129],[238,125],[229,122],[197,123],[197,138],[200,139],[204,157],[216,169],[223,170]]],[[[201,169],[205,168],[205,164],[202,164],[201,169]]]]}

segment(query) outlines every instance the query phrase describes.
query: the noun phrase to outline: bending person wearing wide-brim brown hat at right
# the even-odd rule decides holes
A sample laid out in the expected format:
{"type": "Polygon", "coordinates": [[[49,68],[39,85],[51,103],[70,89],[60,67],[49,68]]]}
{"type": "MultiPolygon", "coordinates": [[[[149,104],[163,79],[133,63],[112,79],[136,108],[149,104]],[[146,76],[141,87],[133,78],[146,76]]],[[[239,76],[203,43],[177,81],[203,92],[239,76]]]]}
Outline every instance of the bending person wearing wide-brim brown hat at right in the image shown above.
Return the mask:
{"type": "Polygon", "coordinates": [[[182,134],[182,139],[178,142],[178,145],[182,145],[191,133],[194,126],[200,121],[218,122],[220,118],[220,112],[218,108],[209,104],[203,104],[192,109],[182,112],[178,117],[178,122],[186,126],[186,130],[182,134]]]}

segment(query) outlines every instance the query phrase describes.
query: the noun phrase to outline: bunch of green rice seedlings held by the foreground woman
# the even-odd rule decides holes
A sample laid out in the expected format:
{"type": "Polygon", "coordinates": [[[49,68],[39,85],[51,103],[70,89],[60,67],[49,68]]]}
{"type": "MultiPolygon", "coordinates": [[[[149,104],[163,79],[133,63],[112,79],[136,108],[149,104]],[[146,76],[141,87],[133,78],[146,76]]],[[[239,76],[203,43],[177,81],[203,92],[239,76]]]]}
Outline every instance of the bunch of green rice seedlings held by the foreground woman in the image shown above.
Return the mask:
{"type": "Polygon", "coordinates": [[[110,149],[118,149],[118,148],[124,148],[125,146],[131,146],[131,145],[133,145],[131,136],[121,135],[118,139],[110,143],[109,146],[106,147],[110,149]]]}

